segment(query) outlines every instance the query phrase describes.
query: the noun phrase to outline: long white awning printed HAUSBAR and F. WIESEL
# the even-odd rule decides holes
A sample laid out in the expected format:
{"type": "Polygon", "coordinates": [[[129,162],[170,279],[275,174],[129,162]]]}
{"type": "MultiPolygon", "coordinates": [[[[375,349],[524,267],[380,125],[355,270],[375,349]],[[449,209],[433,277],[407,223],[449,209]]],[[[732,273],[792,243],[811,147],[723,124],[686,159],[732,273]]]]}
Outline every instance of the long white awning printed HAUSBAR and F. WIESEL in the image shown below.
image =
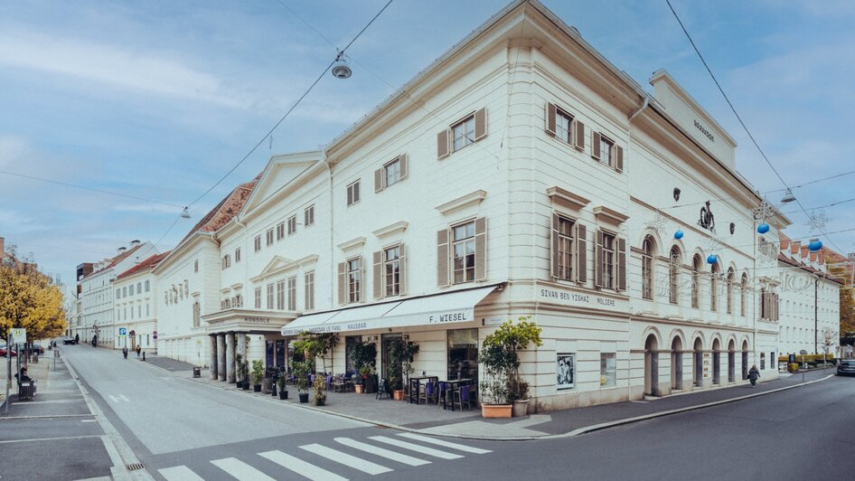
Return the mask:
{"type": "Polygon", "coordinates": [[[465,289],[299,316],[282,327],[282,335],[299,335],[304,331],[338,333],[465,323],[474,320],[475,306],[495,288],[496,286],[465,289]]]}

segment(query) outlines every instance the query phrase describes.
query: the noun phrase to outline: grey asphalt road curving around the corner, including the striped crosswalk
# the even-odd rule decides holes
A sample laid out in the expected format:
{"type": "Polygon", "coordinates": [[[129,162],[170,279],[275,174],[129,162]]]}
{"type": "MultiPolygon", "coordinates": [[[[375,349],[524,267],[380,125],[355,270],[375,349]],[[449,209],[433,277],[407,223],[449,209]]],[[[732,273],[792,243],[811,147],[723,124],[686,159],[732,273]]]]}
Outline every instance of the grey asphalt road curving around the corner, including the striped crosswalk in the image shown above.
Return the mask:
{"type": "Polygon", "coordinates": [[[157,479],[855,478],[855,378],[574,438],[490,442],[414,439],[104,349],[66,358],[157,479]]]}

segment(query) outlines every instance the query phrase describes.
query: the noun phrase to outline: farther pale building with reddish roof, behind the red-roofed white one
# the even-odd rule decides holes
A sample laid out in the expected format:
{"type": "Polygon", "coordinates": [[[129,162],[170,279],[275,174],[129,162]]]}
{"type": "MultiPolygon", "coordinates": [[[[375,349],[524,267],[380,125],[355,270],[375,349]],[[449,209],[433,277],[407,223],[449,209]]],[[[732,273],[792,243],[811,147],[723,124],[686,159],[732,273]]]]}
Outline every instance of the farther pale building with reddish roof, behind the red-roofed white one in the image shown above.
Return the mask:
{"type": "Polygon", "coordinates": [[[113,279],[155,252],[151,242],[131,241],[129,248],[119,248],[116,257],[93,264],[91,272],[84,274],[79,282],[81,311],[77,330],[82,332],[80,342],[91,343],[97,338],[99,346],[115,347],[113,279]]]}

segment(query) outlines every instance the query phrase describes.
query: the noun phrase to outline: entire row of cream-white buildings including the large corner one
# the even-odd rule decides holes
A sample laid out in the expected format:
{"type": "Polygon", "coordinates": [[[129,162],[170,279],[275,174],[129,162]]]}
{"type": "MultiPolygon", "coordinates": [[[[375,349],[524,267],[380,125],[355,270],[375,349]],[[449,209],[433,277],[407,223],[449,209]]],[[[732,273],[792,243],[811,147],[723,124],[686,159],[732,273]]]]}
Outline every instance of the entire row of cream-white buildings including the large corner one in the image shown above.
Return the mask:
{"type": "Polygon", "coordinates": [[[841,283],[758,211],[719,123],[668,72],[650,84],[513,2],[324,148],[270,158],[173,250],[79,269],[73,329],[224,382],[236,354],[287,368],[305,331],[341,336],[334,373],[377,344],[383,376],[404,338],[418,373],[456,379],[531,316],[532,410],[709,389],[751,364],[775,378],[779,355],[836,339],[841,283]]]}

